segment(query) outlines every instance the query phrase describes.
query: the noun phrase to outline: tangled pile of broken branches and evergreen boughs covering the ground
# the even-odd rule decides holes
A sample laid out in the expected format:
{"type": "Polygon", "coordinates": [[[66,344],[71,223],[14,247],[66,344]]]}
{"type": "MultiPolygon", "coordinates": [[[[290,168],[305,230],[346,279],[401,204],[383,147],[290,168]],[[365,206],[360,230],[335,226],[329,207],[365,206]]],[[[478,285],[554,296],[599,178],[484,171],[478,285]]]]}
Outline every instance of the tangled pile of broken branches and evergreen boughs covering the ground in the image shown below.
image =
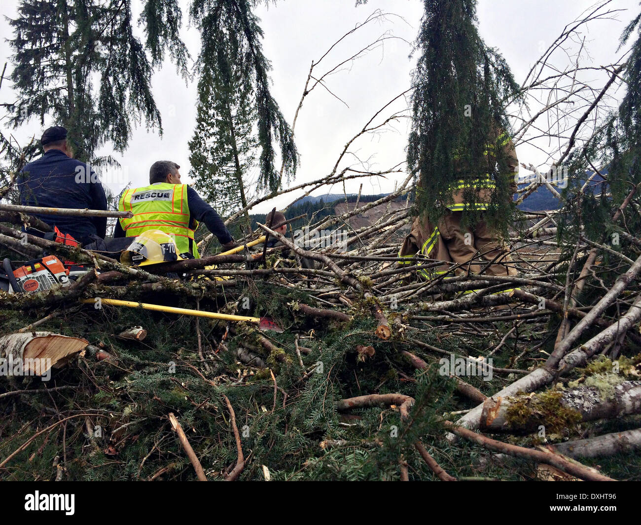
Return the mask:
{"type": "Polygon", "coordinates": [[[47,252],[88,271],[2,297],[0,357],[56,346],[54,362],[78,366],[49,388],[0,384],[15,416],[0,428],[0,476],[102,479],[104,465],[109,479],[629,477],[641,447],[641,239],[568,244],[556,236],[563,210],[533,212],[510,239],[517,277],[451,264],[424,279],[419,266],[442,263],[398,264],[412,210],[390,203],[409,184],[296,239],[259,224],[253,236],[277,237],[275,248],[145,270],[25,236],[16,223],[28,216],[3,212],[0,243],[14,256],[47,252]],[[375,223],[349,226],[372,208],[375,223]],[[96,298],[269,315],[284,331],[79,304],[96,298]],[[19,326],[26,316],[37,318],[19,326]],[[55,337],[74,344],[34,343],[55,337]],[[472,463],[470,447],[485,450],[472,463]],[[40,456],[55,474],[28,466],[40,456]],[[607,456],[619,458],[607,474],[590,466],[607,456]]]}

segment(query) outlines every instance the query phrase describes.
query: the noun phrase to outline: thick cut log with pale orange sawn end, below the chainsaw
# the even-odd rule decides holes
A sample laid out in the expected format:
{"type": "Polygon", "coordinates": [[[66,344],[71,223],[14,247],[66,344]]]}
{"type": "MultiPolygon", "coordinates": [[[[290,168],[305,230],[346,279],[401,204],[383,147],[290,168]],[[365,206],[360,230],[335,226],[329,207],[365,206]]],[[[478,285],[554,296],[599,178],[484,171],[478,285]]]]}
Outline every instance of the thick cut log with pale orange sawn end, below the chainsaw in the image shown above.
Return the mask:
{"type": "Polygon", "coordinates": [[[0,336],[0,366],[10,366],[12,370],[20,366],[24,375],[44,375],[52,366],[65,365],[88,344],[82,338],[51,332],[7,334],[0,336]]]}

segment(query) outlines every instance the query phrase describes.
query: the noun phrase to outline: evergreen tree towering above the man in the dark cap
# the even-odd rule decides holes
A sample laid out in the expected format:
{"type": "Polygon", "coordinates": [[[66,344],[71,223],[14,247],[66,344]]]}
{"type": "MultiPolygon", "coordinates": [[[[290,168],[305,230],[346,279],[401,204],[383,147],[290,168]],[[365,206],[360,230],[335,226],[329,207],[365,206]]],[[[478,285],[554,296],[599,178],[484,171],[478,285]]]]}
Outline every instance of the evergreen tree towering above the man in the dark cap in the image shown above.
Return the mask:
{"type": "Polygon", "coordinates": [[[81,159],[92,159],[106,141],[123,151],[143,117],[162,132],[151,74],[165,49],[187,74],[180,21],[177,0],[147,0],[139,21],[146,32],[142,44],[133,35],[129,0],[22,0],[9,21],[11,80],[18,93],[11,123],[38,117],[43,126],[46,116],[53,117],[69,130],[81,159]]]}

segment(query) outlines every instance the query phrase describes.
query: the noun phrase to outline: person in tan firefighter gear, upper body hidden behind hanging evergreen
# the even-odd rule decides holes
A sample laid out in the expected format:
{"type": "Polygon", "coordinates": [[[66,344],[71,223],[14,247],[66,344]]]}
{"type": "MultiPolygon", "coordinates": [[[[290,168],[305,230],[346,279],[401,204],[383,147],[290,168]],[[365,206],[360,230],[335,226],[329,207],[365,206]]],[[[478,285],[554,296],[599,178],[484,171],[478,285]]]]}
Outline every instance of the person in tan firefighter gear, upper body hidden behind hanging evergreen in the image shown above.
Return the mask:
{"type": "MultiPolygon", "coordinates": [[[[510,198],[512,198],[518,190],[515,175],[519,171],[519,160],[509,135],[504,132],[497,134],[496,142],[503,149],[502,156],[506,164],[505,173],[501,175],[510,177],[510,198]]],[[[492,155],[492,146],[488,145],[486,155],[492,155]]],[[[480,211],[488,209],[494,188],[492,180],[481,174],[474,178],[459,180],[451,186],[453,203],[448,205],[448,212],[438,220],[437,224],[432,224],[426,217],[417,217],[412,224],[410,234],[405,237],[399,250],[399,257],[411,258],[419,254],[447,263],[470,263],[466,264],[465,268],[459,268],[457,273],[463,273],[468,269],[472,273],[479,273],[481,268],[485,268],[483,271],[486,275],[517,275],[501,235],[483,220],[483,216],[473,228],[462,225],[463,210],[466,207],[480,211]],[[476,190],[475,202],[465,200],[465,190],[470,187],[476,190]],[[472,262],[475,258],[478,260],[472,262]]],[[[402,261],[401,264],[412,264],[412,261],[402,261]]],[[[419,268],[420,275],[429,279],[446,273],[449,265],[422,264],[422,266],[424,269],[419,268]]]]}

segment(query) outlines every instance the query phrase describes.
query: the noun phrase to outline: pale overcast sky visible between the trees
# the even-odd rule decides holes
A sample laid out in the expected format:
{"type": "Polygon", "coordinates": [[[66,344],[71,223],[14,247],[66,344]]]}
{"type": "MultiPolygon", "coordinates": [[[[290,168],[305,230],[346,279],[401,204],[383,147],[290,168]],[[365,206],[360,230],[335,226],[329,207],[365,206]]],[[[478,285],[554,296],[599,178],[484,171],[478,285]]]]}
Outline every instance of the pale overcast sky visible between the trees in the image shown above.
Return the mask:
{"type": "MultiPolygon", "coordinates": [[[[15,17],[17,2],[3,1],[0,13],[15,17]]],[[[133,1],[135,10],[140,2],[133,1]]],[[[187,3],[182,1],[184,21],[187,22],[187,3]]],[[[478,3],[479,29],[488,45],[500,49],[512,67],[517,82],[522,80],[535,62],[542,49],[549,46],[560,34],[565,24],[576,19],[585,9],[594,4],[592,0],[518,0],[499,2],[480,0],[478,3]]],[[[637,15],[638,0],[613,0],[613,9],[626,9],[617,13],[614,20],[595,21],[585,33],[585,46],[595,65],[610,64],[615,60],[619,35],[630,19],[637,15]]],[[[345,143],[358,133],[363,125],[390,100],[410,87],[410,72],[413,60],[408,57],[410,43],[415,39],[420,17],[420,0],[370,0],[365,6],[354,7],[354,0],[279,0],[269,8],[258,9],[265,33],[263,51],[272,62],[271,78],[273,94],[281,110],[291,123],[296,107],[303,93],[306,76],[312,60],[318,60],[325,51],[344,33],[359,22],[381,10],[390,15],[387,22],[368,24],[345,39],[340,46],[324,58],[316,74],[323,74],[338,62],[353,55],[358,49],[391,31],[383,46],[373,49],[360,60],[344,67],[342,71],[329,76],[328,90],[317,87],[304,101],[296,123],[296,143],[301,153],[301,166],[294,184],[314,180],[331,172],[345,143]],[[340,98],[342,101],[338,100],[340,98]]],[[[136,13],[136,17],[138,12],[136,13]]],[[[4,40],[9,36],[9,26],[0,19],[0,58],[10,56],[10,48],[4,40]]],[[[185,28],[181,33],[190,53],[195,58],[199,51],[199,35],[194,28],[185,28]]],[[[570,58],[567,58],[567,63],[570,58]]],[[[558,64],[565,67],[566,64],[558,64]]],[[[10,68],[10,65],[8,65],[10,68]]],[[[603,83],[597,73],[590,73],[595,82],[603,83]]],[[[318,78],[318,77],[317,77],[318,78]]],[[[590,77],[584,81],[590,81],[590,77]]],[[[122,177],[133,186],[148,184],[149,166],[155,160],[175,160],[181,166],[183,180],[189,171],[188,141],[194,132],[196,119],[196,85],[185,85],[176,75],[171,63],[153,77],[153,92],[163,120],[163,137],[156,131],[147,132],[138,128],[133,133],[129,148],[123,155],[114,155],[122,165],[122,177]]],[[[0,92],[2,102],[13,101],[10,85],[3,83],[0,92]]],[[[395,105],[381,114],[383,118],[394,111],[407,107],[408,100],[399,99],[395,105]]],[[[345,157],[341,167],[357,163],[369,163],[372,170],[385,170],[404,161],[408,119],[394,123],[393,129],[376,135],[366,135],[354,142],[354,155],[345,157]],[[358,157],[358,159],[357,159],[358,157]]],[[[28,137],[40,137],[42,130],[37,121],[13,132],[21,142],[28,137]]],[[[99,154],[110,154],[103,148],[99,154]]],[[[533,164],[544,162],[534,148],[518,148],[519,160],[533,164]]],[[[248,174],[250,177],[255,174],[248,174]]],[[[101,174],[103,176],[103,174],[101,174]]],[[[114,193],[124,186],[121,181],[105,180],[114,193]]],[[[104,174],[103,178],[110,176],[104,174]]],[[[356,193],[363,182],[363,193],[391,191],[394,183],[403,180],[404,174],[381,178],[348,181],[348,193],[356,193]]],[[[315,194],[342,193],[342,185],[316,191],[315,194]]],[[[284,207],[294,198],[303,194],[296,191],[254,209],[255,212],[269,211],[274,205],[284,207]]]]}

